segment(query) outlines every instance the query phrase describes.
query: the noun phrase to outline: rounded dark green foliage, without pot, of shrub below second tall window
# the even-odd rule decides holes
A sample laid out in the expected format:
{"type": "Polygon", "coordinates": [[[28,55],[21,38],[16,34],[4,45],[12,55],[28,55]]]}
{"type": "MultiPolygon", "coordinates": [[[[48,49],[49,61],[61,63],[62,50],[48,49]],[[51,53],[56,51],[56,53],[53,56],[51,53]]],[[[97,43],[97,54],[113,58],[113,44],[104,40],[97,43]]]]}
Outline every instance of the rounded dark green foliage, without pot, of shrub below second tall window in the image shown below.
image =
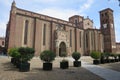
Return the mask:
{"type": "Polygon", "coordinates": [[[40,59],[45,62],[51,62],[55,59],[56,55],[52,51],[45,50],[40,54],[40,59]]]}

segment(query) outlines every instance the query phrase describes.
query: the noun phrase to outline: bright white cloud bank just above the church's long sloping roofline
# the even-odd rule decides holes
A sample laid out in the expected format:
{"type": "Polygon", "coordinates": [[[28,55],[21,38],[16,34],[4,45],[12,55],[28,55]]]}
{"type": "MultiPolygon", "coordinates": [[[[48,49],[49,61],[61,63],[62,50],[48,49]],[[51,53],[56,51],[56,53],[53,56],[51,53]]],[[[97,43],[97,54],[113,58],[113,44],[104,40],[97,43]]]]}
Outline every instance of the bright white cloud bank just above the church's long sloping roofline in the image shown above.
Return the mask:
{"type": "Polygon", "coordinates": [[[38,11],[38,13],[45,14],[51,17],[60,18],[60,19],[67,20],[67,21],[69,17],[76,15],[76,14],[80,14],[79,11],[76,11],[76,10],[60,9],[60,8],[59,9],[58,8],[46,8],[41,11],[38,11]]]}

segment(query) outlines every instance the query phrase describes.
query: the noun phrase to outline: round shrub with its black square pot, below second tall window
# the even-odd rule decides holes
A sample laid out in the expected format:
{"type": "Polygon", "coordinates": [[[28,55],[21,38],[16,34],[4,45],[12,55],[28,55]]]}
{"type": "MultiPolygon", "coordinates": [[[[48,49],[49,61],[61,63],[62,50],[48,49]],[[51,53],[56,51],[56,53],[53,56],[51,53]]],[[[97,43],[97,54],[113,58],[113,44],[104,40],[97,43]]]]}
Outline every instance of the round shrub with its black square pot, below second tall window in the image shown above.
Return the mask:
{"type": "Polygon", "coordinates": [[[56,54],[50,50],[45,50],[40,54],[40,59],[44,61],[43,70],[52,70],[52,61],[55,60],[56,54]]]}

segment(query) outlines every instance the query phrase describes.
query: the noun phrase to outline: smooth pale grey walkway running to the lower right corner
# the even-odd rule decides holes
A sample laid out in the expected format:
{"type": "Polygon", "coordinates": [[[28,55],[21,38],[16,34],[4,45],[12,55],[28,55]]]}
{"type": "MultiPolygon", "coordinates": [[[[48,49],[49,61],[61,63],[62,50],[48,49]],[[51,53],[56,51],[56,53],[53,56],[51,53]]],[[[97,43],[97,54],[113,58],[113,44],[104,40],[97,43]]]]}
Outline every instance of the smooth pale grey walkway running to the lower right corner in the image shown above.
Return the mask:
{"type": "Polygon", "coordinates": [[[105,80],[120,80],[120,72],[83,62],[83,67],[105,80]]]}

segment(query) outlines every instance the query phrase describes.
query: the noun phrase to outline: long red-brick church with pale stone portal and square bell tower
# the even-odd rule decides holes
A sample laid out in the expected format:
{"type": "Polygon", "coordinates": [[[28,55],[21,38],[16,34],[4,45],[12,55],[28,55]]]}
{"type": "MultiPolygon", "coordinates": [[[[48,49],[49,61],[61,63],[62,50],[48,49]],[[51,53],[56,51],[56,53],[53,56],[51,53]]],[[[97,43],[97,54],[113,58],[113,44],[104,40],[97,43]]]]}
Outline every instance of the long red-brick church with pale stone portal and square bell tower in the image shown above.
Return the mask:
{"type": "Polygon", "coordinates": [[[99,12],[100,29],[93,27],[89,17],[74,15],[68,21],[34,13],[11,5],[6,29],[6,48],[32,47],[38,56],[44,50],[51,50],[57,56],[66,52],[90,55],[91,51],[116,52],[113,10],[99,12]]]}

